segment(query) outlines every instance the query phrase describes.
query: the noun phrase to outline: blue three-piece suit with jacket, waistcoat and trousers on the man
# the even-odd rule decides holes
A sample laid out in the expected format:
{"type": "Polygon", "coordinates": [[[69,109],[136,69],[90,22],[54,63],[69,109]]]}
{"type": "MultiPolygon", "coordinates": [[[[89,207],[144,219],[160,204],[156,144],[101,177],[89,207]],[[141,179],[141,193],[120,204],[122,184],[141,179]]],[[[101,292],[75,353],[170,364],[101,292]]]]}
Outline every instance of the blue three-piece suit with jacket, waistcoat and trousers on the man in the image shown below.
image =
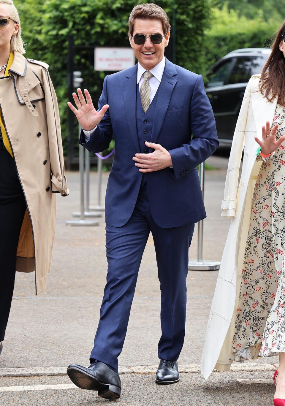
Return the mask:
{"type": "Polygon", "coordinates": [[[215,120],[203,78],[166,59],[158,91],[142,109],[137,65],[106,76],[99,109],[109,109],[85,142],[101,152],[114,136],[116,152],[106,192],[107,284],[91,359],[114,369],[123,348],[138,269],[149,232],[153,235],[161,289],[158,357],[175,361],[186,320],[188,250],[194,223],[205,218],[196,166],[218,147],[215,120]],[[162,145],[173,168],[142,174],[132,158],[162,145]]]}

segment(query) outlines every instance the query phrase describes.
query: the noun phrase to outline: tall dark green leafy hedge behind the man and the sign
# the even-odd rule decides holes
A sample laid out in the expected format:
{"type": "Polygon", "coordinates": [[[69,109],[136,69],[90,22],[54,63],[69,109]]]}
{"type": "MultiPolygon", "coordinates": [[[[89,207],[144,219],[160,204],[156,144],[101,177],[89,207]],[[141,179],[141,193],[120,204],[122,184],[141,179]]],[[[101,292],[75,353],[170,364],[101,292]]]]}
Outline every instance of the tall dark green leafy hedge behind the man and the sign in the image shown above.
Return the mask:
{"type": "MultiPolygon", "coordinates": [[[[95,72],[93,49],[82,46],[130,46],[128,17],[138,0],[15,0],[19,9],[27,57],[44,60],[50,65],[50,75],[58,96],[63,145],[67,151],[67,56],[68,35],[75,39],[74,70],[82,71],[83,86],[88,88],[95,106],[101,94],[104,72],[95,72]]],[[[172,24],[173,9],[177,12],[176,63],[199,71],[204,55],[203,31],[207,24],[209,0],[161,0],[172,24]],[[198,51],[198,52],[197,52],[198,51]]],[[[108,72],[110,73],[110,72],[108,72]]],[[[75,129],[77,128],[74,120],[75,129]]],[[[75,134],[76,130],[75,130],[75,134]]],[[[75,140],[77,145],[77,140],[75,140]]]]}

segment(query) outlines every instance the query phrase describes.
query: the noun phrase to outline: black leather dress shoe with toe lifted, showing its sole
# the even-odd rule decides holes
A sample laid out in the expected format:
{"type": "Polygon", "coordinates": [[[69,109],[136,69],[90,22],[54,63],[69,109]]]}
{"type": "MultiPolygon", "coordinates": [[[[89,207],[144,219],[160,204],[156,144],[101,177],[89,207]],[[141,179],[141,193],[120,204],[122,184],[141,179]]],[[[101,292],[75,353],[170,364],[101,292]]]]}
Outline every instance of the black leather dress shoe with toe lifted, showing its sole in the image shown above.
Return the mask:
{"type": "Polygon", "coordinates": [[[71,364],[67,375],[78,388],[98,391],[98,396],[115,400],[121,396],[121,380],[119,374],[104,362],[95,361],[88,368],[71,364]]]}

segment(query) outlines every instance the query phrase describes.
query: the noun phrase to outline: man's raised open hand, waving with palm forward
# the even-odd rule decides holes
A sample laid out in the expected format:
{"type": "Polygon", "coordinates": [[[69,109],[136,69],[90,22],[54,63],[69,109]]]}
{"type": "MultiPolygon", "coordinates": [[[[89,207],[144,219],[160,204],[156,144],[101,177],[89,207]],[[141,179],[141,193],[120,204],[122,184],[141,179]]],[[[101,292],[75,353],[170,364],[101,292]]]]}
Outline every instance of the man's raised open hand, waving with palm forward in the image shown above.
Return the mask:
{"type": "Polygon", "coordinates": [[[109,106],[105,104],[100,111],[97,111],[93,106],[90,93],[87,89],[84,89],[86,101],[81,89],[77,89],[77,92],[78,96],[76,93],[72,93],[72,96],[78,110],[70,102],[68,102],[67,105],[76,115],[81,127],[86,131],[91,131],[100,123],[109,106]]]}

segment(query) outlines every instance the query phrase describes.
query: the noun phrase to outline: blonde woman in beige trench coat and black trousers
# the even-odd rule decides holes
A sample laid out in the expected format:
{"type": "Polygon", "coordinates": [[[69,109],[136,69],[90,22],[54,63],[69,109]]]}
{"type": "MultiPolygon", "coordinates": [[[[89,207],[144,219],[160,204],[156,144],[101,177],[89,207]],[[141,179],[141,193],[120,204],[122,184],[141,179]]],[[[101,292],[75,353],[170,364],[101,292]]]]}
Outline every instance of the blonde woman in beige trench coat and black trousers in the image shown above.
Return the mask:
{"type": "Polygon", "coordinates": [[[26,59],[17,9],[0,0],[0,353],[15,270],[45,289],[56,194],[67,196],[56,94],[48,65],[26,59]]]}

